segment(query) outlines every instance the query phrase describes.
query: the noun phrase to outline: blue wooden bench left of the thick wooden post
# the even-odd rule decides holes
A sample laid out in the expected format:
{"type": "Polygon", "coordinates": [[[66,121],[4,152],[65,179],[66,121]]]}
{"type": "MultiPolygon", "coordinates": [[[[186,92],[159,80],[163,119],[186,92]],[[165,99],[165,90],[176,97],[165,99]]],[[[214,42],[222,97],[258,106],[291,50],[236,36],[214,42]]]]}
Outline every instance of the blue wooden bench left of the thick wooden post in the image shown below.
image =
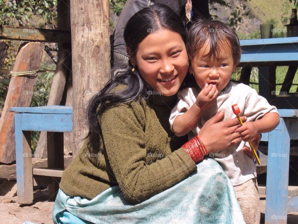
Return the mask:
{"type": "Polygon", "coordinates": [[[33,202],[33,174],[30,131],[47,131],[48,168],[52,170],[36,170],[37,175],[51,175],[52,184],[49,194],[54,195],[58,182],[55,176],[61,176],[57,170],[64,168],[63,132],[72,132],[72,107],[11,107],[15,112],[16,132],[16,179],[18,202],[33,202]]]}

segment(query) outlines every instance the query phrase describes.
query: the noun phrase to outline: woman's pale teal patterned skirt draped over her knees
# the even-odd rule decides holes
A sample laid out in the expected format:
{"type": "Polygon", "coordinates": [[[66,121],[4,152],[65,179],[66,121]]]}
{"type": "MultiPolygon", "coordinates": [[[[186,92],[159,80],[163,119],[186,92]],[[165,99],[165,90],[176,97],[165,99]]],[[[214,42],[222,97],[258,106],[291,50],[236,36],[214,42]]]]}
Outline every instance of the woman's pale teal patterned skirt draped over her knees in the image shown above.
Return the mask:
{"type": "Polygon", "coordinates": [[[72,223],[73,218],[79,218],[80,223],[98,224],[245,223],[233,186],[221,166],[207,158],[197,168],[183,181],[139,204],[129,203],[118,186],[92,200],[70,197],[59,189],[53,221],[72,223]]]}

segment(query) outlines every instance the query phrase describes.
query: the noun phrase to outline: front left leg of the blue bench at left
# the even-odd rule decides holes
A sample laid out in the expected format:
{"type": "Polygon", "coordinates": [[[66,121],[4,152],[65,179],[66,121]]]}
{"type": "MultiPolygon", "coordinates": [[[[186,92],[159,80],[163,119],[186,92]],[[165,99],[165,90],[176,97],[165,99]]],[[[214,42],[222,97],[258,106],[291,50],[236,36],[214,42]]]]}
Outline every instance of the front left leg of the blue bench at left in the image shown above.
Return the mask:
{"type": "Polygon", "coordinates": [[[18,202],[33,202],[33,177],[30,131],[22,131],[22,114],[15,114],[16,184],[18,202]]]}

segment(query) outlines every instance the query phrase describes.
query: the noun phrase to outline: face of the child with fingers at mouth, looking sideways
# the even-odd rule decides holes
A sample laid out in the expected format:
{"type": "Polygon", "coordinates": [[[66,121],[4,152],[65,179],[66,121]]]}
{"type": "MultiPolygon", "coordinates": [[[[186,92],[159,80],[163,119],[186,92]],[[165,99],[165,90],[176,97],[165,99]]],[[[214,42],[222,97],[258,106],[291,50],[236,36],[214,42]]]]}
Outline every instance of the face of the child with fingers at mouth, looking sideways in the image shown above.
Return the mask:
{"type": "Polygon", "coordinates": [[[215,59],[215,61],[214,58],[210,60],[208,57],[202,58],[203,55],[209,53],[209,49],[209,43],[206,42],[194,57],[189,71],[194,73],[196,83],[201,89],[203,89],[205,83],[208,83],[216,85],[217,90],[220,92],[227,86],[236,67],[233,61],[232,49],[228,44],[222,46],[219,60],[215,59]]]}

